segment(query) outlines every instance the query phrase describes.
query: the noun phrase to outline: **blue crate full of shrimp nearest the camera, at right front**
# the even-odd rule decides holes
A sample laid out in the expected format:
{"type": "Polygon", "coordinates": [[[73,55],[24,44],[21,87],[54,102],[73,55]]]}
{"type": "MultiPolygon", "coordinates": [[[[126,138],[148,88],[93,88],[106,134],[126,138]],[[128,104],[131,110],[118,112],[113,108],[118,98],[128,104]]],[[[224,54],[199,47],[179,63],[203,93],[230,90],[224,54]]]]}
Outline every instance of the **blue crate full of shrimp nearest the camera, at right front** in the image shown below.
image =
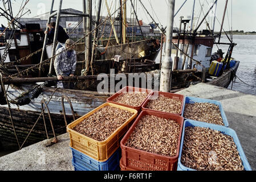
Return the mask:
{"type": "Polygon", "coordinates": [[[251,171],[251,167],[233,129],[186,120],[177,170],[251,171]]]}

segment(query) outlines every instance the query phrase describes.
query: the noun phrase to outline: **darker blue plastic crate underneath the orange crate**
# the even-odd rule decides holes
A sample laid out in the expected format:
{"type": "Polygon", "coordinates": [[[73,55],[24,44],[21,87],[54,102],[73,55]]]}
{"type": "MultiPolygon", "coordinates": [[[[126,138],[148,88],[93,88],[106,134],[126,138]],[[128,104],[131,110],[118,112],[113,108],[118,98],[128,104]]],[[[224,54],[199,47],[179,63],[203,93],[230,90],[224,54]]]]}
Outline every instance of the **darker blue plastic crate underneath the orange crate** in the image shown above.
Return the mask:
{"type": "MultiPolygon", "coordinates": [[[[74,167],[82,169],[82,171],[116,171],[116,168],[120,165],[121,148],[119,147],[113,155],[105,162],[98,162],[97,160],[90,158],[86,154],[71,148],[72,162],[74,167]]],[[[75,168],[75,169],[76,169],[75,168]]]]}

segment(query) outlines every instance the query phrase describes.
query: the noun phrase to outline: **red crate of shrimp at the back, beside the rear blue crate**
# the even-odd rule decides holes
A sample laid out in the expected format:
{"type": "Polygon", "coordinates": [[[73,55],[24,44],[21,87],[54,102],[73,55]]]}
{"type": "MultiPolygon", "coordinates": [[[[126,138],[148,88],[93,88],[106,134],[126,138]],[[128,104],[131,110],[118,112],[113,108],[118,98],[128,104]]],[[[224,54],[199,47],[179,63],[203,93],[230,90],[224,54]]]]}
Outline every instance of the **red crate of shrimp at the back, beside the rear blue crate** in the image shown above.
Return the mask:
{"type": "Polygon", "coordinates": [[[181,94],[154,91],[142,105],[142,110],[181,115],[183,102],[181,94]]]}

